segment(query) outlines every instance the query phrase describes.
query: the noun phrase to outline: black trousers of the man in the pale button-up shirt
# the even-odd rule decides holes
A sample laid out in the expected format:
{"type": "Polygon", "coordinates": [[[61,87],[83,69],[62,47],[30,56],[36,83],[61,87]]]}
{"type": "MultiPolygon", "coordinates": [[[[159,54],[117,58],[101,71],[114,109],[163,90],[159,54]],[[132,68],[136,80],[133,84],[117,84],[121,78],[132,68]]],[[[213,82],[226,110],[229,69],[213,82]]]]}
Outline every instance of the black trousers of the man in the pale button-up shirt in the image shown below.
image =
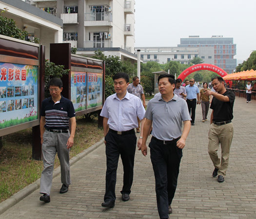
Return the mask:
{"type": "Polygon", "coordinates": [[[131,193],[137,137],[135,135],[135,132],[127,135],[118,135],[113,132],[108,132],[108,134],[105,136],[105,141],[107,170],[104,202],[115,202],[115,188],[117,182],[119,155],[121,155],[123,164],[123,187],[121,193],[131,193]]]}

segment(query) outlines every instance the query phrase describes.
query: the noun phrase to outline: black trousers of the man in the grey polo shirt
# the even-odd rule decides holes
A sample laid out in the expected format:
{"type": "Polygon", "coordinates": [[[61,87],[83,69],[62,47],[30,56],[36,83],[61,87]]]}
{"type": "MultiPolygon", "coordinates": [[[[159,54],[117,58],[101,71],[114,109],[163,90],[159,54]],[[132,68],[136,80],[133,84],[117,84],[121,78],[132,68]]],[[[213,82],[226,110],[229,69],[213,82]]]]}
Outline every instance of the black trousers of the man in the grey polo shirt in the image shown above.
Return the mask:
{"type": "Polygon", "coordinates": [[[151,138],[150,158],[156,180],[158,214],[161,219],[168,218],[168,205],[171,205],[177,187],[179,164],[182,149],[177,147],[177,140],[162,144],[155,137],[151,138]]]}

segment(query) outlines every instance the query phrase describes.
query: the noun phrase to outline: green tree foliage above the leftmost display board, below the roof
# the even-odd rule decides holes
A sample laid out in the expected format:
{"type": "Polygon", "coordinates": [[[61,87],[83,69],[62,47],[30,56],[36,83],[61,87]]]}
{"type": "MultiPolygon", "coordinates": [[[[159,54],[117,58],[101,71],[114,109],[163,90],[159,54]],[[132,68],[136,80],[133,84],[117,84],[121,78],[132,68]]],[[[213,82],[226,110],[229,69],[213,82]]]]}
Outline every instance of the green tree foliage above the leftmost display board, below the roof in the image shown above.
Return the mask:
{"type": "MultiPolygon", "coordinates": [[[[4,9],[1,13],[8,11],[7,8],[4,9]]],[[[28,38],[28,32],[20,30],[13,19],[3,17],[2,15],[0,15],[0,34],[31,42],[28,38]]],[[[34,37],[33,43],[39,43],[39,41],[39,38],[34,37]]]]}

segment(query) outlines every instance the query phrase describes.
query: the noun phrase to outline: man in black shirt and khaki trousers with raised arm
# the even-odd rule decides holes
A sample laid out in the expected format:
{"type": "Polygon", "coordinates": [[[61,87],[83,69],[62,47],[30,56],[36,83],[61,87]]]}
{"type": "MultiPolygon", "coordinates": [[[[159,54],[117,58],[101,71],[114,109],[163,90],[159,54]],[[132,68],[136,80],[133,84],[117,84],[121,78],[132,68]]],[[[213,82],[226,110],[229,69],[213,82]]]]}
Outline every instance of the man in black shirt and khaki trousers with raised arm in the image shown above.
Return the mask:
{"type": "Polygon", "coordinates": [[[229,150],[233,138],[233,106],[235,94],[226,90],[223,78],[217,76],[212,79],[213,88],[216,93],[207,89],[207,96],[213,95],[211,103],[212,115],[209,130],[208,152],[214,164],[213,177],[218,175],[218,182],[224,182],[224,176],[228,168],[229,150]],[[217,150],[221,147],[221,160],[218,158],[217,150]]]}

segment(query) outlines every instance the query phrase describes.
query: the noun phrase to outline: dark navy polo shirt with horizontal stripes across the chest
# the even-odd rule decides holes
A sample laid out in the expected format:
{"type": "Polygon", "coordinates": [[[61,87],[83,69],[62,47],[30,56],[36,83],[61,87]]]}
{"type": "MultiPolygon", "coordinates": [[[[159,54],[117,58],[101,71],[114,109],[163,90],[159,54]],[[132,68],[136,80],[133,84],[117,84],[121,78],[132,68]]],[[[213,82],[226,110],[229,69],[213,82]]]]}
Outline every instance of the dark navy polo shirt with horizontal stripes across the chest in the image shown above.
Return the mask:
{"type": "Polygon", "coordinates": [[[45,117],[44,127],[47,129],[68,129],[69,118],[76,116],[73,103],[62,97],[54,103],[49,97],[42,101],[41,116],[45,117]]]}

